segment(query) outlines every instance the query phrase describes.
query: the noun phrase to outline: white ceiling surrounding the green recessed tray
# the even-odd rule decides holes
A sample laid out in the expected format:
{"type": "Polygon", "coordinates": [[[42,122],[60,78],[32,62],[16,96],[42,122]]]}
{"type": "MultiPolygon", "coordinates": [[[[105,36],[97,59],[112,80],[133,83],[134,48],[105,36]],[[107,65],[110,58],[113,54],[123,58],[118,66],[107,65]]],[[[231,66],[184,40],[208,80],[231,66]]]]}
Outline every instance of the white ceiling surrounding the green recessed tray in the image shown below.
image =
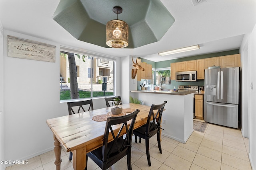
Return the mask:
{"type": "MultiPolygon", "coordinates": [[[[21,33],[27,35],[26,39],[35,39],[33,37],[45,39],[64,47],[86,51],[89,54],[116,58],[132,55],[134,58],[141,57],[159,62],[239,49],[244,34],[250,33],[256,24],[256,0],[207,0],[197,6],[192,4],[192,0],[160,0],[175,18],[175,22],[159,41],[137,48],[105,48],[77,40],[53,20],[54,12],[56,14],[60,13],[60,11],[56,11],[60,1],[0,0],[0,22],[4,32],[8,33],[8,35],[15,35],[8,31],[21,33]],[[196,44],[200,45],[200,50],[166,56],[158,55],[160,52],[196,44]]],[[[136,2],[132,0],[116,0],[117,3],[122,1],[131,2],[138,6],[138,3],[144,0],[137,0],[136,2]]],[[[66,3],[74,4],[75,2],[76,0],[66,0],[66,3]]],[[[97,3],[98,0],[86,0],[86,2],[97,3]]],[[[108,0],[108,2],[110,1],[108,0]]],[[[106,4],[98,5],[99,8],[93,10],[106,10],[105,6],[106,4]]],[[[144,10],[144,8],[140,10],[144,10]]],[[[136,11],[134,10],[130,13],[135,14],[136,11]]],[[[123,12],[122,14],[125,13],[123,12]]],[[[65,15],[68,17],[67,14],[65,15]]],[[[95,15],[100,14],[96,13],[95,15]]],[[[109,15],[100,15],[100,17],[109,17],[108,20],[113,20],[116,19],[116,14],[112,12],[111,6],[109,15]]],[[[118,15],[120,20],[126,20],[123,17],[121,14],[120,16],[118,15]]],[[[135,15],[131,18],[139,17],[135,15]]],[[[160,17],[158,20],[162,19],[160,17]]],[[[104,32],[105,30],[106,28],[104,28],[104,32]]]]}

